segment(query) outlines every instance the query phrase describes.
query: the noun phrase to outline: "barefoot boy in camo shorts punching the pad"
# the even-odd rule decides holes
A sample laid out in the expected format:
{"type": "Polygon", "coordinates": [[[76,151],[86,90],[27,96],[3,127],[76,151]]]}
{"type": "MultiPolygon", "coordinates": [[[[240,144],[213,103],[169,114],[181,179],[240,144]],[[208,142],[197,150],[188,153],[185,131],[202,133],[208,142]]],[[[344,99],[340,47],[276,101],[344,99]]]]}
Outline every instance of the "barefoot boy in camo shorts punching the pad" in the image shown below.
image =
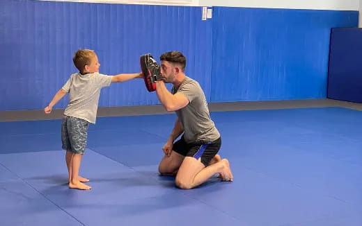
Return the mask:
{"type": "Polygon", "coordinates": [[[68,167],[70,189],[88,190],[91,186],[84,184],[87,178],[79,176],[81,157],[86,149],[89,123],[95,123],[100,89],[108,87],[111,82],[125,82],[133,78],[143,78],[141,73],[126,73],[106,76],[99,73],[100,63],[94,51],[80,49],[74,54],[74,66],[79,73],[70,76],[68,82],[59,89],[44,111],[52,112],[52,107],[69,92],[69,103],[65,108],[61,139],[62,148],[66,150],[65,162],[68,167]]]}

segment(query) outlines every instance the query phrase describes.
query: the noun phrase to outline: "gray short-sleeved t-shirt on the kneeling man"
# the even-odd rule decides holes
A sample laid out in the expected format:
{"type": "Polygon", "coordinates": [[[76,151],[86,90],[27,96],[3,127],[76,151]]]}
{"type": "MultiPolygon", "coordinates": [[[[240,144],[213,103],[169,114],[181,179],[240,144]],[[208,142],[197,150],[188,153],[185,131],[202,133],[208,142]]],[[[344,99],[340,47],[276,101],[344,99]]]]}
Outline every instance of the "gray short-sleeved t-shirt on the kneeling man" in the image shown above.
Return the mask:
{"type": "Polygon", "coordinates": [[[210,118],[205,94],[198,82],[186,76],[177,90],[172,88],[173,94],[177,92],[189,99],[188,105],[176,111],[184,128],[184,140],[187,143],[217,140],[220,134],[210,118]]]}

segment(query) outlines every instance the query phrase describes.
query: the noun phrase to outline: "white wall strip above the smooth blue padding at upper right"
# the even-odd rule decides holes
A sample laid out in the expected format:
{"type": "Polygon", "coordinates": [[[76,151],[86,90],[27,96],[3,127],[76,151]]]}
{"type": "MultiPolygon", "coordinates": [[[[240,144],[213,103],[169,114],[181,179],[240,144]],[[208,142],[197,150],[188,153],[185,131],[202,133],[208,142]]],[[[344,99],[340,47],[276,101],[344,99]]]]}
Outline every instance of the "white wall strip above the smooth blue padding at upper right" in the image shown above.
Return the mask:
{"type": "Polygon", "coordinates": [[[359,10],[362,0],[198,0],[199,6],[359,10]]]}

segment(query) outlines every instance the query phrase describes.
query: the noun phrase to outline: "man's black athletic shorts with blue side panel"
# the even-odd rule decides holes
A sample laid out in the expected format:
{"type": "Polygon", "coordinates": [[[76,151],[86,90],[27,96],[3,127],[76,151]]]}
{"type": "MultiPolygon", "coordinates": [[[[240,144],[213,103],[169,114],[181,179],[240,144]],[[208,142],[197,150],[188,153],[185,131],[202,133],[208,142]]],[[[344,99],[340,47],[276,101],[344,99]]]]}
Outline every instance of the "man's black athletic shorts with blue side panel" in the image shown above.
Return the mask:
{"type": "Polygon", "coordinates": [[[201,158],[201,162],[207,166],[211,159],[217,155],[221,147],[221,137],[211,142],[186,143],[184,137],[173,144],[173,150],[184,157],[201,158]]]}

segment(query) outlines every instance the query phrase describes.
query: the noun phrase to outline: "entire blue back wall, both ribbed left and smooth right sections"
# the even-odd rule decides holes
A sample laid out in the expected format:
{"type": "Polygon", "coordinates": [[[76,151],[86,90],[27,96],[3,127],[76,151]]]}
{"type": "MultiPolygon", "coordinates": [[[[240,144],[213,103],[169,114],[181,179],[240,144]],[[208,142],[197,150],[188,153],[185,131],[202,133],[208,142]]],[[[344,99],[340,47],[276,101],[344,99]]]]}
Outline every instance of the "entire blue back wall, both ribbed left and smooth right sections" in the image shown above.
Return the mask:
{"type": "MultiPolygon", "coordinates": [[[[182,51],[207,101],[326,97],[329,34],[357,11],[0,1],[0,111],[42,109],[94,49],[101,73],[139,71],[139,55],[182,51]]],[[[67,98],[56,105],[65,107],[67,98]]],[[[100,106],[153,105],[142,80],[104,88],[100,106]]]]}

